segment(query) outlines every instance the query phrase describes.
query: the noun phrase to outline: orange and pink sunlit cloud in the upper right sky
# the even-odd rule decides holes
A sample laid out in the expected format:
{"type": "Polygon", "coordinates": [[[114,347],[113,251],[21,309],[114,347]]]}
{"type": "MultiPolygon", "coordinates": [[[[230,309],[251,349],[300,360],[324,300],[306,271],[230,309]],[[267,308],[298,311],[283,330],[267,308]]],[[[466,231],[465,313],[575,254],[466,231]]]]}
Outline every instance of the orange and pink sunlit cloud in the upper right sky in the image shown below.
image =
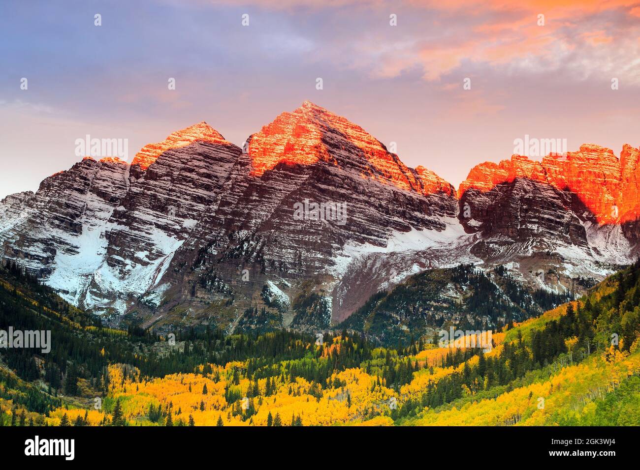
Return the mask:
{"type": "MultiPolygon", "coordinates": [[[[455,22],[468,24],[468,29],[453,36],[447,34],[447,21],[436,19],[434,23],[440,24],[442,30],[438,30],[442,35],[415,40],[407,43],[404,49],[396,47],[385,54],[384,61],[376,61],[373,65],[374,74],[380,77],[396,77],[406,70],[421,67],[425,80],[437,81],[465,61],[488,65],[513,63],[529,70],[545,67],[549,70],[548,67],[561,67],[562,56],[568,56],[584,43],[605,48],[602,52],[611,49],[609,57],[602,52],[591,57],[592,52],[580,51],[582,61],[593,65],[594,73],[615,67],[612,57],[618,56],[614,54],[616,51],[625,49],[637,55],[634,41],[627,40],[627,36],[640,34],[640,24],[623,25],[627,30],[619,30],[616,14],[624,14],[633,6],[628,13],[640,16],[638,0],[452,0],[445,3],[410,0],[408,4],[455,15],[455,22]],[[611,13],[606,22],[594,20],[605,12],[611,13]]],[[[433,35],[433,31],[428,33],[433,35]]],[[[362,62],[376,56],[364,52],[362,62]]]]}

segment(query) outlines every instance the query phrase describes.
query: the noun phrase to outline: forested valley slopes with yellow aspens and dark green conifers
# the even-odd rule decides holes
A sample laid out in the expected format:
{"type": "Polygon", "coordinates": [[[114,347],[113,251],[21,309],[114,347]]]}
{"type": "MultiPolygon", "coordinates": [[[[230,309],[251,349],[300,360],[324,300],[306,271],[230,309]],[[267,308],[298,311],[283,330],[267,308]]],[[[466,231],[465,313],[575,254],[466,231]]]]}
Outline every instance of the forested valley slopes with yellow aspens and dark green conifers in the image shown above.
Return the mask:
{"type": "Polygon", "coordinates": [[[173,342],[100,327],[15,267],[1,276],[3,328],[54,338],[49,354],[0,350],[4,425],[640,424],[640,263],[494,331],[486,352],[349,331],[173,342]]]}

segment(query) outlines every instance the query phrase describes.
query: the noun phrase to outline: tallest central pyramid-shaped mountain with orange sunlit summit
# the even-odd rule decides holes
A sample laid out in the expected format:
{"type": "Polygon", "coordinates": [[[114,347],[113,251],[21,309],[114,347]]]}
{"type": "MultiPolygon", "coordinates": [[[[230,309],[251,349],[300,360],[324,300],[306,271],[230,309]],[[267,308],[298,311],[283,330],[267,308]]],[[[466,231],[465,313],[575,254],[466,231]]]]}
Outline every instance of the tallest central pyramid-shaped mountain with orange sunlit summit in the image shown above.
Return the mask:
{"type": "Polygon", "coordinates": [[[339,318],[344,297],[348,310],[357,308],[377,288],[339,292],[352,247],[384,251],[394,233],[444,232],[444,220],[456,214],[454,192],[434,173],[406,167],[362,128],[305,102],[248,138],[220,204],[173,257],[170,283],[181,286],[177,298],[191,292],[196,316],[234,322],[237,309],[264,304],[253,297],[267,286],[292,306],[282,324],[326,326],[339,318]],[[314,217],[316,203],[340,209],[314,217]],[[321,299],[296,309],[306,290],[321,299]],[[236,302],[225,311],[228,295],[236,302]]]}

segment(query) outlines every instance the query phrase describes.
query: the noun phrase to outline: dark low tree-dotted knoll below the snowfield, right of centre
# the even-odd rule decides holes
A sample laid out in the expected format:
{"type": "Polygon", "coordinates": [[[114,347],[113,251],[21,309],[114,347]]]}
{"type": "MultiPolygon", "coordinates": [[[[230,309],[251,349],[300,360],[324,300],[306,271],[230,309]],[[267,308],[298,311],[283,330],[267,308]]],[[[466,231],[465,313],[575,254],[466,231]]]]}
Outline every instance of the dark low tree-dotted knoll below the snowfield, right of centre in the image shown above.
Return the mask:
{"type": "Polygon", "coordinates": [[[574,294],[532,290],[502,265],[489,272],[470,264],[429,269],[372,295],[339,327],[396,344],[432,338],[452,325],[486,331],[521,322],[572,300],[574,294]]]}

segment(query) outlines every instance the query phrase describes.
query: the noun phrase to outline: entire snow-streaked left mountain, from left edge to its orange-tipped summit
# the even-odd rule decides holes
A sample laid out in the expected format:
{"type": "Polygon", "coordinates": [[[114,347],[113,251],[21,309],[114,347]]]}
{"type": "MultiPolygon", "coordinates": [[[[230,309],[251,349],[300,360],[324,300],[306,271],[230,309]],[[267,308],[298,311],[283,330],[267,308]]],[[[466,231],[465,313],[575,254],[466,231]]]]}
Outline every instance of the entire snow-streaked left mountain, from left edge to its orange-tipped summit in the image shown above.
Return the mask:
{"type": "MultiPolygon", "coordinates": [[[[214,204],[240,149],[200,123],[168,140],[145,170],[91,157],[56,173],[35,194],[3,201],[2,253],[38,272],[68,301],[101,313],[124,313],[143,295],[153,304],[159,279],[214,204]],[[197,138],[196,138],[197,137],[197,138]],[[188,145],[182,145],[190,141],[188,145]]],[[[140,155],[140,154],[139,154],[140,155]]]]}

